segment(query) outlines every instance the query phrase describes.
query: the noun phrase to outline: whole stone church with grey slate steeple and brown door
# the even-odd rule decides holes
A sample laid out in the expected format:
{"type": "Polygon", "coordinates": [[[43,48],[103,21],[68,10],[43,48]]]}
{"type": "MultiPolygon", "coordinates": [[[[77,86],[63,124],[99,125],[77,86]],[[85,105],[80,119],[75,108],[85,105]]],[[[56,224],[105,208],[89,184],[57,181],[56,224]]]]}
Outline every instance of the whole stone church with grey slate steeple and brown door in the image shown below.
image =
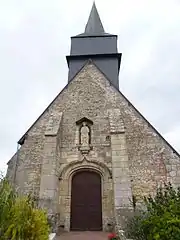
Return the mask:
{"type": "Polygon", "coordinates": [[[8,162],[9,180],[56,228],[123,228],[133,199],[180,183],[180,155],[119,90],[121,56],[93,4],[85,31],[71,37],[67,85],[8,162]]]}

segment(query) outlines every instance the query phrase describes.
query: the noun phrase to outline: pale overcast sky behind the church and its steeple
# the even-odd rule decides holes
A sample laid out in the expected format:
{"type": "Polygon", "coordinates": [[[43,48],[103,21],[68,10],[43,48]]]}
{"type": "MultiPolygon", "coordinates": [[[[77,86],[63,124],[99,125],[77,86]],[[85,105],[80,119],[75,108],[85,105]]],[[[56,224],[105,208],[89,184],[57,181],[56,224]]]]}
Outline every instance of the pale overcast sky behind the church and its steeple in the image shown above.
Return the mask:
{"type": "MultiPolygon", "coordinates": [[[[70,37],[92,0],[0,0],[0,169],[67,83],[70,37]]],[[[118,34],[120,90],[180,151],[180,1],[97,0],[118,34]]]]}

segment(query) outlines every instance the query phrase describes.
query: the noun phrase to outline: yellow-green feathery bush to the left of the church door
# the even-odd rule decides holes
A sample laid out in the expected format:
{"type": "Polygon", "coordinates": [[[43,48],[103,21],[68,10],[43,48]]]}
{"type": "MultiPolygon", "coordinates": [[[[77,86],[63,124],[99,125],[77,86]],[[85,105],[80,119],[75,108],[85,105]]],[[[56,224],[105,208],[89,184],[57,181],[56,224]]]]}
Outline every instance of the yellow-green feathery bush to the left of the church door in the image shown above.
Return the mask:
{"type": "Polygon", "coordinates": [[[0,182],[0,239],[48,240],[47,215],[30,196],[17,196],[6,179],[0,182]]]}

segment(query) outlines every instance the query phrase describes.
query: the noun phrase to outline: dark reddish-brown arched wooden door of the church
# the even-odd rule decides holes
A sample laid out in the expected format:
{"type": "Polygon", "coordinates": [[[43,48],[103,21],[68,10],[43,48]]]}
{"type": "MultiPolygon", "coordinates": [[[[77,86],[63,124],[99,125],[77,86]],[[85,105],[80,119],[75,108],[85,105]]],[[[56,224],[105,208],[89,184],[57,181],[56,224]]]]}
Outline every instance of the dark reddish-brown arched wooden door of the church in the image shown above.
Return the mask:
{"type": "Polygon", "coordinates": [[[101,176],[93,171],[80,171],[72,177],[72,231],[102,230],[101,176]]]}

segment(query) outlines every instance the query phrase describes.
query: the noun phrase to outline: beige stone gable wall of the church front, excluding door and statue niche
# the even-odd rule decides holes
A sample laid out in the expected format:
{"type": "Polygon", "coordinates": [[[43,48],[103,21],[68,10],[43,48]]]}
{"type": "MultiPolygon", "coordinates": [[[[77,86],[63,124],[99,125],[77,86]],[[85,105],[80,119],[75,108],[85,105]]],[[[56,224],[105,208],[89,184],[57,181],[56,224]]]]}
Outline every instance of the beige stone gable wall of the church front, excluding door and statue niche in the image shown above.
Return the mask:
{"type": "MultiPolygon", "coordinates": [[[[93,122],[92,149],[84,167],[94,167],[105,174],[104,225],[114,216],[123,224],[123,209],[129,211],[133,195],[140,199],[153,193],[162,181],[179,185],[179,155],[89,62],[31,127],[18,154],[16,185],[25,193],[51,197],[56,203],[54,214],[60,212],[61,224],[69,227],[71,174],[65,171],[75,171],[84,159],[78,150],[76,124],[84,117],[93,122]],[[56,133],[52,133],[53,126],[56,133]],[[68,178],[60,179],[63,174],[68,178]],[[50,182],[46,184],[47,181],[50,182]]],[[[8,168],[11,180],[12,162],[13,159],[8,168]]]]}

